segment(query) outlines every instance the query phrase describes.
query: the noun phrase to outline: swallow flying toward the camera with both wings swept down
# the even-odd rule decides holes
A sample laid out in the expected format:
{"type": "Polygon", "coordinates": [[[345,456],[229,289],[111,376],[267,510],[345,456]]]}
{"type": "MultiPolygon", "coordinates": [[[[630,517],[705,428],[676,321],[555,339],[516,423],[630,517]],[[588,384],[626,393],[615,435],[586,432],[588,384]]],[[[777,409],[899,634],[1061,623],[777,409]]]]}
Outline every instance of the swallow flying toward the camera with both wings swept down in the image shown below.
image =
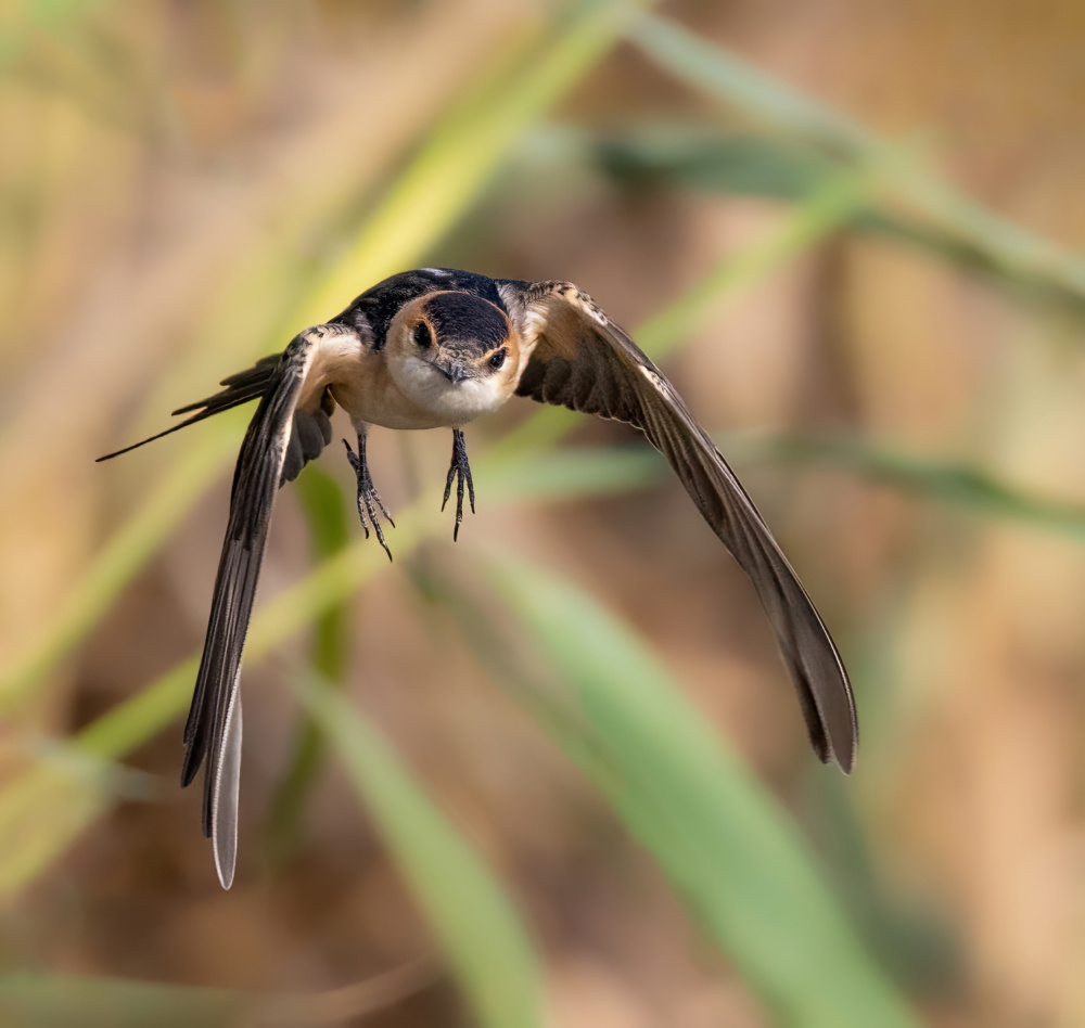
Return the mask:
{"type": "Polygon", "coordinates": [[[424,268],[385,279],[281,354],[224,378],[175,414],[184,421],[108,460],[221,411],[258,401],[241,445],[203,657],[184,727],[181,785],[206,763],[203,831],[224,888],[233,881],[241,774],[241,659],[280,486],[331,442],[342,407],[358,515],[391,558],[392,518],[366,460],[371,425],[450,428],[442,509],[456,486],[458,537],[474,484],[463,425],[511,397],[567,407],[639,428],[674,468],[702,517],[753,581],[776,632],[810,742],[851,771],[858,738],[847,672],[829,631],[753,501],[674,386],[595,300],[570,282],[490,279],[424,268]]]}

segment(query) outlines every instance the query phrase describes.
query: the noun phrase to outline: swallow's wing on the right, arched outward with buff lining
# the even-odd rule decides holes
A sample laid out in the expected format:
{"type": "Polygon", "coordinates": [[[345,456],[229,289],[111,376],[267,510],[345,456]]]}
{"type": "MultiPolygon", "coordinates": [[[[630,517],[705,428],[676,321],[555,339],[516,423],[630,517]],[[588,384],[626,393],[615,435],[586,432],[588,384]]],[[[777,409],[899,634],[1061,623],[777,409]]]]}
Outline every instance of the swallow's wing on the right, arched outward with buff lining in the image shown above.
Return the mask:
{"type": "Polygon", "coordinates": [[[671,462],[690,498],[753,580],[776,630],[821,760],[850,771],[858,725],[847,672],[820,616],[753,501],[674,386],[629,336],[569,282],[499,281],[535,348],[516,393],[624,421],[671,462]]]}

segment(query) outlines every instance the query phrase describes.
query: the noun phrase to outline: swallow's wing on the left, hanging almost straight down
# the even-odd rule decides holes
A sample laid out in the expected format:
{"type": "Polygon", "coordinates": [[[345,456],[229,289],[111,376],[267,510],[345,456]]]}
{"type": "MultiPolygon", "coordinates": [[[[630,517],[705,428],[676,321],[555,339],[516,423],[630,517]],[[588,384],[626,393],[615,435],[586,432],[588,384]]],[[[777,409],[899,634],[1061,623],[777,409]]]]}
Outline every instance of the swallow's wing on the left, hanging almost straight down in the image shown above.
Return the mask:
{"type": "Polygon", "coordinates": [[[333,336],[348,334],[353,334],[350,330],[339,325],[318,325],[294,337],[268,376],[233,474],[230,518],[184,727],[181,769],[181,784],[188,785],[207,761],[203,830],[212,839],[215,866],[225,888],[233,881],[238,843],[241,657],[267,547],[271,507],[299,435],[295,415],[305,412],[298,403],[304,400],[306,407],[320,410],[323,390],[312,380],[321,347],[333,336]]]}

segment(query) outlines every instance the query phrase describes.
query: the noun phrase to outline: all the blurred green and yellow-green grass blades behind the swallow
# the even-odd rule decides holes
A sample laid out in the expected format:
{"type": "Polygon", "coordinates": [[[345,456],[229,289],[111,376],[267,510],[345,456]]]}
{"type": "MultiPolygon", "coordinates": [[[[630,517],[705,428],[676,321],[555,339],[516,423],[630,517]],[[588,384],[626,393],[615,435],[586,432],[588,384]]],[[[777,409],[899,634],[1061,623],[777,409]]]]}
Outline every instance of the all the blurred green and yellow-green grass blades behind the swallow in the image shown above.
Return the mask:
{"type": "MultiPolygon", "coordinates": [[[[111,7],[124,8],[27,2],[9,13],[0,29],[0,61],[17,88],[34,88],[26,83],[41,77],[35,62],[49,67],[54,50],[64,55],[56,66],[68,72],[69,64],[93,66],[102,60],[95,48],[103,26],[116,16],[111,7]]],[[[681,346],[726,303],[844,233],[904,243],[930,260],[980,273],[1030,305],[1078,314],[1085,299],[1080,258],[950,189],[915,147],[889,145],[675,22],[644,13],[647,7],[582,0],[510,24],[443,110],[422,118],[401,145],[390,145],[382,162],[369,166],[358,158],[349,184],[340,172],[331,182],[335,188],[318,182],[284,203],[273,244],[241,253],[218,306],[206,321],[196,319],[195,331],[207,329],[217,359],[225,354],[244,363],[277,349],[298,326],[339,309],[365,284],[439,255],[464,219],[485,207],[498,178],[502,192],[515,192],[518,175],[540,146],[554,168],[590,166],[626,190],[756,195],[787,205],[774,231],[703,270],[692,287],[639,326],[636,337],[656,358],[681,346]],[[638,49],[700,93],[710,111],[718,105],[718,117],[607,129],[544,124],[618,44],[638,49]],[[316,257],[301,242],[311,243],[314,235],[316,257]],[[273,301],[253,304],[266,295],[273,301]],[[259,314],[250,318],[254,306],[259,314]],[[229,333],[212,329],[212,322],[229,326],[229,333]]],[[[64,74],[58,73],[54,85],[64,74]]],[[[108,76],[102,74],[107,92],[108,76]]],[[[193,355],[206,352],[190,347],[162,377],[190,375],[193,355]]],[[[151,393],[144,412],[132,419],[136,425],[151,424],[162,408],[159,390],[151,393]]],[[[128,498],[119,524],[51,617],[4,654],[0,704],[13,724],[48,701],[63,680],[64,663],[92,638],[220,478],[246,413],[232,412],[189,433],[174,451],[179,455],[128,498]]],[[[561,446],[578,425],[569,412],[539,411],[477,451],[480,493],[515,511],[525,503],[623,496],[663,477],[662,462],[642,448],[561,446]]],[[[13,426],[5,437],[11,445],[18,441],[17,421],[13,426]]],[[[850,434],[732,434],[722,445],[742,465],[831,465],[937,504],[963,506],[981,518],[1072,537],[1085,530],[1080,504],[1009,485],[963,458],[928,459],[850,434]]],[[[371,580],[381,588],[383,552],[348,540],[347,501],[334,478],[310,468],[298,488],[314,567],[266,597],[247,650],[253,664],[284,639],[315,627],[311,668],[289,667],[311,719],[297,730],[270,805],[268,852],[280,863],[291,859],[331,745],[478,1023],[541,1024],[544,958],[523,904],[510,897],[456,819],[427,798],[424,784],[401,764],[380,729],[344,698],[349,605],[371,580]]],[[[767,1016],[810,1026],[916,1023],[892,980],[896,968],[869,945],[871,931],[890,930],[890,915],[873,927],[854,926],[784,805],[706,727],[634,629],[572,580],[500,551],[480,548],[472,570],[463,561],[450,574],[427,567],[432,540],[448,527],[437,506],[436,491],[425,490],[395,513],[395,552],[408,562],[420,595],[442,601],[495,682],[558,742],[651,853],[695,930],[726,956],[767,1016]],[[547,674],[538,673],[541,667],[547,674]]],[[[17,899],[43,887],[82,833],[118,801],[153,795],[144,778],[122,761],[183,714],[195,661],[195,654],[180,660],[67,736],[54,733],[42,741],[27,733],[28,754],[0,788],[5,896],[17,899]]],[[[932,938],[922,936],[920,945],[933,946],[932,938]]],[[[263,1008],[264,1016],[272,1016],[266,1013],[268,998],[242,990],[27,976],[22,968],[12,968],[0,984],[0,1003],[28,1024],[69,1019],[71,1007],[50,1007],[44,1000],[69,994],[76,1006],[89,1004],[88,1011],[104,1004],[103,1024],[128,1023],[123,1017],[144,1023],[140,1018],[166,1010],[183,1010],[186,1017],[207,1024],[215,1017],[232,1023],[238,1011],[263,1008]]],[[[299,1002],[304,1011],[304,998],[299,1002]]]]}

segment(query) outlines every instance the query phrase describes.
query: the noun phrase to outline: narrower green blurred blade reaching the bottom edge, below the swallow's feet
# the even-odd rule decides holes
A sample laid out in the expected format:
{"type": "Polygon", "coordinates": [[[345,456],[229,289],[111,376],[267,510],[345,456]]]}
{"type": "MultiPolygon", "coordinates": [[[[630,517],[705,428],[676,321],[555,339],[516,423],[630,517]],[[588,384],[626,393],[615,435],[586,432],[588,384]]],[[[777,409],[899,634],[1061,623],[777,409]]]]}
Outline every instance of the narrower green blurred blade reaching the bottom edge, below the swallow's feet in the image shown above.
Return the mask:
{"type": "Polygon", "coordinates": [[[301,695],[339,748],[478,1023],[540,1026],[535,954],[501,886],[346,699],[315,683],[301,695]]]}

